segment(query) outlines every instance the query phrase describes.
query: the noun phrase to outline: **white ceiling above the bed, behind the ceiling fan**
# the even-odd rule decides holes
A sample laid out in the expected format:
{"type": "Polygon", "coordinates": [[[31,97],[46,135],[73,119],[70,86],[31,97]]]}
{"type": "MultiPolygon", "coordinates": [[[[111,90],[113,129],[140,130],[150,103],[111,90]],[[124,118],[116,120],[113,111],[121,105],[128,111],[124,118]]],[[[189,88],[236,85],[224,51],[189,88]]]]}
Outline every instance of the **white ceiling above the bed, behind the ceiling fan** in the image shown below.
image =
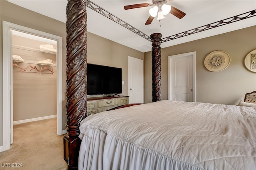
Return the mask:
{"type": "MultiPolygon", "coordinates": [[[[66,23],[67,0],[8,0],[42,15],[66,23]]],[[[200,26],[211,24],[226,18],[243,14],[256,9],[256,0],[173,0],[168,4],[186,13],[182,19],[168,14],[161,22],[152,21],[145,25],[149,17],[150,7],[124,10],[125,5],[151,3],[151,0],[91,0],[101,8],[124,20],[144,34],[150,36],[159,32],[162,38],[185,32],[200,26]],[[160,27],[161,24],[161,27],[160,27]]],[[[134,32],[120,26],[116,22],[104,17],[90,8],[87,9],[87,30],[98,36],[126,45],[138,51],[151,51],[151,42],[138,36],[134,32]]],[[[184,42],[230,32],[256,25],[256,17],[233,22],[225,26],[206,30],[168,42],[162,42],[161,47],[169,47],[184,42]]]]}

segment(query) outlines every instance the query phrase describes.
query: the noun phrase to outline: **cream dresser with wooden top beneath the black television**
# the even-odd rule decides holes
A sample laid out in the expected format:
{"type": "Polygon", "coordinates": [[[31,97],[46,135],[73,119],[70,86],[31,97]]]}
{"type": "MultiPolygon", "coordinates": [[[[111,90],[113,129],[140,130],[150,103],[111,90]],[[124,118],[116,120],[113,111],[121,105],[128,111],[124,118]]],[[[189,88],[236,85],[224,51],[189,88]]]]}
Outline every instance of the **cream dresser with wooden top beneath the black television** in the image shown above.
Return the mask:
{"type": "Polygon", "coordinates": [[[87,98],[87,116],[107,111],[117,106],[127,105],[129,96],[120,97],[90,97],[87,98]]]}

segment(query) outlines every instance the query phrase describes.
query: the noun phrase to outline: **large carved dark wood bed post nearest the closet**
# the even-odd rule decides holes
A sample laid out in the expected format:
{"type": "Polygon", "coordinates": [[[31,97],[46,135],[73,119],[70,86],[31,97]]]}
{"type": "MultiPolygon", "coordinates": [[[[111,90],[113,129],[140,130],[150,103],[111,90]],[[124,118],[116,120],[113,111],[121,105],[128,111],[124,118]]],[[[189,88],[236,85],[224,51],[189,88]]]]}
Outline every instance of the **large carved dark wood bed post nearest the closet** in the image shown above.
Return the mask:
{"type": "Polygon", "coordinates": [[[86,117],[87,13],[85,0],[68,0],[67,4],[67,131],[63,138],[64,160],[68,169],[78,169],[81,140],[80,121],[86,117]]]}

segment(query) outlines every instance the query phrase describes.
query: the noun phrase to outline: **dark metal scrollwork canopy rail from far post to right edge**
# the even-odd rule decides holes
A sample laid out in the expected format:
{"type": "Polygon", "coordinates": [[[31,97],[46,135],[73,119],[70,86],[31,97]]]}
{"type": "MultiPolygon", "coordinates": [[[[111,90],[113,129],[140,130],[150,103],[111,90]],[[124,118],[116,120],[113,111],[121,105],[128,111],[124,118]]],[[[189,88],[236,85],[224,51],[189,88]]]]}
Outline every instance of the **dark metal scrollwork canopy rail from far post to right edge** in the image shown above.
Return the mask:
{"type": "Polygon", "coordinates": [[[173,36],[162,38],[161,42],[168,42],[170,40],[174,40],[174,39],[181,38],[181,37],[184,37],[184,36],[189,36],[191,34],[202,32],[202,31],[205,31],[205,30],[210,30],[212,28],[216,28],[216,27],[219,27],[219,26],[224,26],[226,24],[230,24],[232,22],[237,22],[237,21],[240,21],[240,20],[244,20],[246,18],[250,18],[250,17],[253,17],[253,16],[256,16],[256,10],[246,12],[244,14],[240,14],[240,15],[237,15],[237,16],[233,16],[233,17],[230,17],[230,18],[227,18],[227,19],[224,19],[224,20],[220,20],[220,21],[214,22],[212,24],[207,24],[205,26],[194,28],[192,30],[188,30],[188,31],[185,31],[185,32],[182,32],[182,33],[179,33],[179,34],[175,34],[173,36]]]}

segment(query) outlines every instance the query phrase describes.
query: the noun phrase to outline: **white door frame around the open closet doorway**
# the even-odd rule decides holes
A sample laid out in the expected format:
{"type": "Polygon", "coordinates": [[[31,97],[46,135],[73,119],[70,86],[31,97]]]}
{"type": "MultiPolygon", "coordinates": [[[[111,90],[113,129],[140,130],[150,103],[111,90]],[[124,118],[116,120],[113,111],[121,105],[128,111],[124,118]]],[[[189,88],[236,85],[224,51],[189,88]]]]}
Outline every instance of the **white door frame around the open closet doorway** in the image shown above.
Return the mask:
{"type": "Polygon", "coordinates": [[[57,134],[63,134],[62,130],[62,37],[27,28],[17,24],[3,21],[2,22],[2,39],[3,39],[3,150],[10,149],[11,132],[13,126],[12,120],[12,60],[10,56],[10,30],[16,30],[35,36],[40,36],[50,40],[57,41],[57,134]]]}

